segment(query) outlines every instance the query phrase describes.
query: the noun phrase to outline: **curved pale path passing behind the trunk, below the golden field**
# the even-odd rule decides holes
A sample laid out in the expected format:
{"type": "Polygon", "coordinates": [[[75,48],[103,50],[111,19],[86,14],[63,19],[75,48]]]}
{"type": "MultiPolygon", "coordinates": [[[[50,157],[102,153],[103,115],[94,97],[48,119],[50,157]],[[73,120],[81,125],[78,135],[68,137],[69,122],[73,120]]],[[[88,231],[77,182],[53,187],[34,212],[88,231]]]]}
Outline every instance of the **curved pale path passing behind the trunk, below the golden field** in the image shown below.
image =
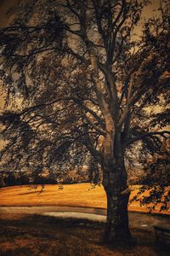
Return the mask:
{"type": "MultiPolygon", "coordinates": [[[[105,209],[85,207],[0,207],[0,213],[42,214],[62,218],[88,218],[105,222],[105,209]]],[[[170,218],[149,213],[129,212],[130,226],[153,230],[153,225],[170,228],[170,218]]]]}

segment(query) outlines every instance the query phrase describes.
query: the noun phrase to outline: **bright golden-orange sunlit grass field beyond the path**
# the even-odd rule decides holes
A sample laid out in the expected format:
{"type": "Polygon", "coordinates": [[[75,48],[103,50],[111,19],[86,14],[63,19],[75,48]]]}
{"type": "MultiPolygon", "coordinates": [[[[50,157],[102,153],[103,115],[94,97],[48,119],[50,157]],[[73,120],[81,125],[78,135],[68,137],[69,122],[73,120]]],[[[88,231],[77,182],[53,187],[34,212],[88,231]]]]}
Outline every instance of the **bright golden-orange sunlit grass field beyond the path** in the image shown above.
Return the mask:
{"type": "MultiPolygon", "coordinates": [[[[0,206],[70,206],[70,207],[98,207],[106,208],[105,191],[102,186],[92,189],[89,183],[64,185],[38,186],[31,189],[29,186],[15,186],[0,189],[0,206]]],[[[138,191],[133,186],[131,197],[138,191]]],[[[147,192],[146,192],[147,193],[147,192]]],[[[140,207],[139,202],[129,206],[130,211],[147,212],[146,207],[140,207]]],[[[157,211],[158,212],[158,208],[157,211]]],[[[170,212],[161,212],[167,213],[170,212]]]]}

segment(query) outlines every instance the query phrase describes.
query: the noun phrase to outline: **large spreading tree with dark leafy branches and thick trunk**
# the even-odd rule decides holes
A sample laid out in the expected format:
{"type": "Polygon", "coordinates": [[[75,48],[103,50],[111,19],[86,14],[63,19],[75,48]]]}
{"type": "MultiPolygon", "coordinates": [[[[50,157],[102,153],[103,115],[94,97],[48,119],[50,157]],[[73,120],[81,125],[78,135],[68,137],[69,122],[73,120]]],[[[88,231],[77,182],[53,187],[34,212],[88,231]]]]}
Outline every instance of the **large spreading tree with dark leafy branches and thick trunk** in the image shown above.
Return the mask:
{"type": "Polygon", "coordinates": [[[85,163],[94,179],[101,170],[105,238],[131,241],[127,150],[136,154],[140,142],[142,152],[158,154],[169,134],[162,130],[169,113],[168,1],[139,26],[138,38],[133,31],[149,1],[23,2],[9,12],[16,18],[0,37],[10,105],[1,117],[3,162],[37,172],[85,163]]]}

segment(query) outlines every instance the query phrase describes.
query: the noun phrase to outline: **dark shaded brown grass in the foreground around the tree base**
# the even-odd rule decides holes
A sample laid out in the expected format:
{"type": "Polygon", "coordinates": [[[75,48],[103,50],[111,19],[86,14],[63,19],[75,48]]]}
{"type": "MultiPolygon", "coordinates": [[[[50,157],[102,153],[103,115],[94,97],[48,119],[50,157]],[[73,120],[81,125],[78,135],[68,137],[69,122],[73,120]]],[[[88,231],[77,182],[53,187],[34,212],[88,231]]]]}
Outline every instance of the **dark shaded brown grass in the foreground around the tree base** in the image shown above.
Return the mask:
{"type": "Polygon", "coordinates": [[[0,214],[1,256],[167,256],[157,247],[155,234],[132,228],[138,240],[133,247],[108,246],[101,237],[104,224],[88,220],[38,215],[0,214]]]}

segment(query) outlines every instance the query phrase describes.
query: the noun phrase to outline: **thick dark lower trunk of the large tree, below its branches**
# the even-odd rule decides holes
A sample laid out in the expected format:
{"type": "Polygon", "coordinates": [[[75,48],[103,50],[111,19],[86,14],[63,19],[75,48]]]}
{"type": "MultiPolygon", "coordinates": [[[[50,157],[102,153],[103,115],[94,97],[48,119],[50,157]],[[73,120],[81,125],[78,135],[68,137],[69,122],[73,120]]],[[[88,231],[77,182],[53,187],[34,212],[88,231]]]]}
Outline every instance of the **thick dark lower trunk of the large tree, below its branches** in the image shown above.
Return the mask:
{"type": "Polygon", "coordinates": [[[107,219],[105,226],[106,242],[131,242],[128,227],[127,203],[129,189],[124,166],[112,166],[104,170],[103,185],[107,195],[107,219]]]}

